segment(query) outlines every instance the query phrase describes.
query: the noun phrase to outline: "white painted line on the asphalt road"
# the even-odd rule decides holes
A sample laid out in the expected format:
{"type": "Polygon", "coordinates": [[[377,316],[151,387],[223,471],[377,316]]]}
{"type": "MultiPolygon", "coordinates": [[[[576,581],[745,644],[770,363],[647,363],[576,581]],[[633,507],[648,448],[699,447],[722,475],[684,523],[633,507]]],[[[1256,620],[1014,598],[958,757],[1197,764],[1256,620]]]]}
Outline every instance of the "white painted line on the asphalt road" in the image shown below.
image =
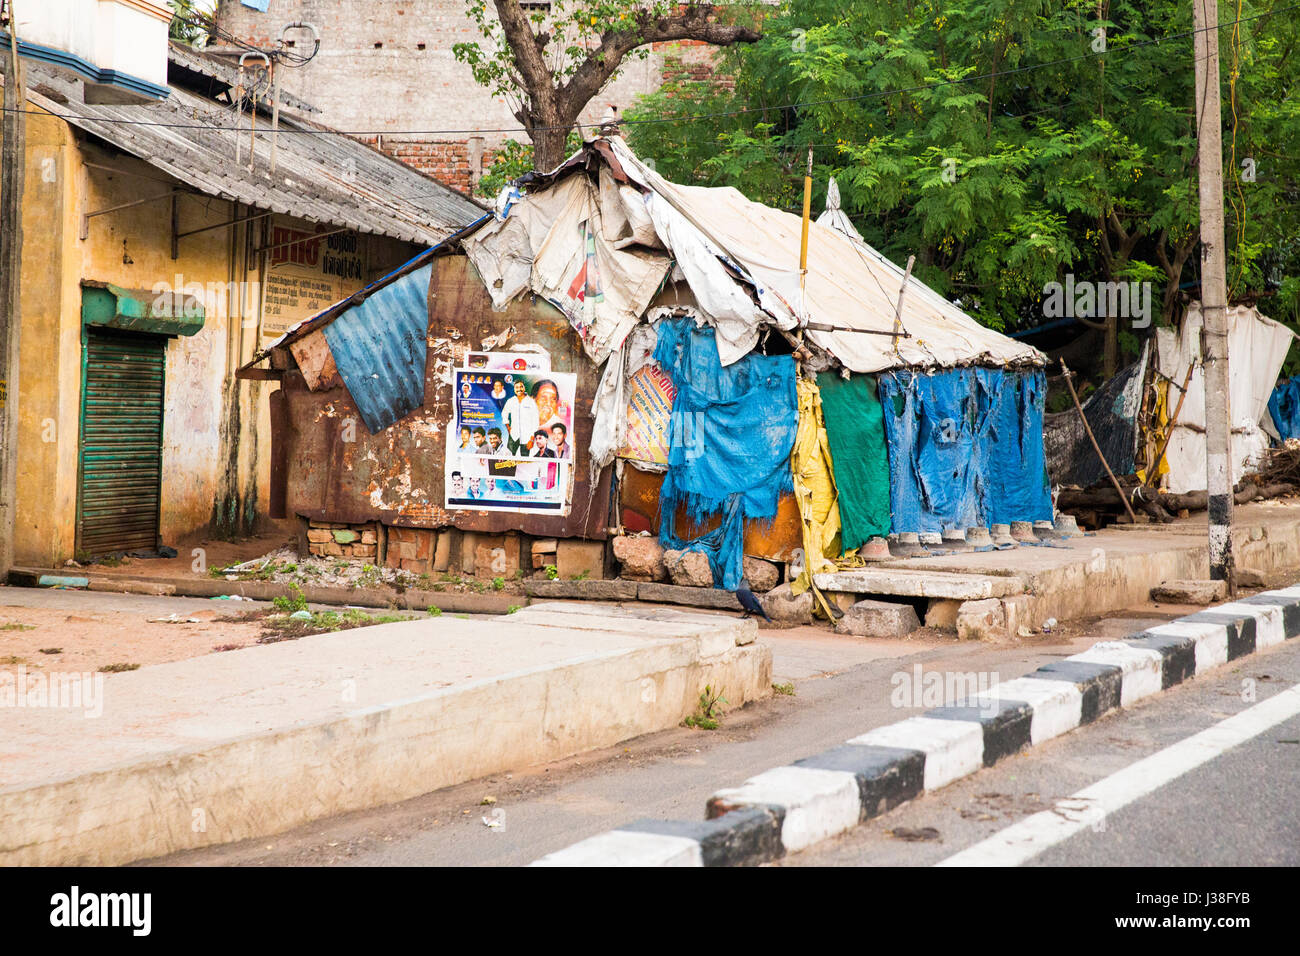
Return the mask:
{"type": "Polygon", "coordinates": [[[941,860],[937,866],[1019,866],[1183,774],[1300,714],[1300,684],[1058,800],[1056,808],[941,860]]]}

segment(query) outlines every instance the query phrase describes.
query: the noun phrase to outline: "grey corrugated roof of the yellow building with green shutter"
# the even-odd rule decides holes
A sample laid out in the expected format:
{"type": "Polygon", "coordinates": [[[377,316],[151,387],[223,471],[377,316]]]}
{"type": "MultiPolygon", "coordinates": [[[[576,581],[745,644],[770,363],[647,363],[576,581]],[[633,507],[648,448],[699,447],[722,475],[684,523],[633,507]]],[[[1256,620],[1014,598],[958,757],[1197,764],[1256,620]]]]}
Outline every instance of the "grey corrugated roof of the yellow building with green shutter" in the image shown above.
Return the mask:
{"type": "Polygon", "coordinates": [[[32,62],[27,77],[34,105],[221,199],[428,246],[484,213],[433,177],[307,120],[281,114],[273,174],[270,124],[259,117],[250,172],[247,114],[238,117],[178,87],[160,103],[90,105],[82,101],[81,81],[66,73],[32,62]]]}

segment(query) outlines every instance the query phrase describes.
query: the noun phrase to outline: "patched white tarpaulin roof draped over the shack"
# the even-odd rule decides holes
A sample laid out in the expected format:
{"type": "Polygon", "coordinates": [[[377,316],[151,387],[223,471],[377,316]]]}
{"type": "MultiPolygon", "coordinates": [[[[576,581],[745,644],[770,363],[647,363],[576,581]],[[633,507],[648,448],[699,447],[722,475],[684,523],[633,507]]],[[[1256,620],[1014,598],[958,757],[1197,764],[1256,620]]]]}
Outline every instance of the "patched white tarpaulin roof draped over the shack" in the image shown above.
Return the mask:
{"type": "Polygon", "coordinates": [[[800,287],[801,219],[754,203],[731,187],[680,186],[642,164],[620,138],[599,143],[630,181],[581,170],[516,199],[463,241],[495,307],[525,290],[559,307],[588,355],[603,363],[649,307],[662,281],[685,278],[718,330],[723,364],[748,354],[759,326],[806,334],[846,368],[950,368],[1044,364],[1045,356],[962,312],[915,277],[900,330],[894,310],[902,269],[836,229],[809,228],[806,291],[800,287]],[[757,299],[757,302],[755,302],[757,299]],[[885,334],[881,334],[885,333],[885,334]]]}

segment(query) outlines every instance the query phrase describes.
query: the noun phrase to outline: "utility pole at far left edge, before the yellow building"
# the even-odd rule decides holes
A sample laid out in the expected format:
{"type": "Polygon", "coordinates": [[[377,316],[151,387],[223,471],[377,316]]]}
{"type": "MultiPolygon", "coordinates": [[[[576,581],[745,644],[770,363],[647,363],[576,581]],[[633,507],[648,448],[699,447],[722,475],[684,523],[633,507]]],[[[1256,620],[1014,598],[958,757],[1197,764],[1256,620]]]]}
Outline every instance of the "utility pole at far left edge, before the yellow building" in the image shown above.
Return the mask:
{"type": "Polygon", "coordinates": [[[9,56],[4,69],[0,142],[0,584],[13,567],[18,468],[18,337],[22,332],[22,187],[27,161],[14,0],[9,0],[9,56]]]}

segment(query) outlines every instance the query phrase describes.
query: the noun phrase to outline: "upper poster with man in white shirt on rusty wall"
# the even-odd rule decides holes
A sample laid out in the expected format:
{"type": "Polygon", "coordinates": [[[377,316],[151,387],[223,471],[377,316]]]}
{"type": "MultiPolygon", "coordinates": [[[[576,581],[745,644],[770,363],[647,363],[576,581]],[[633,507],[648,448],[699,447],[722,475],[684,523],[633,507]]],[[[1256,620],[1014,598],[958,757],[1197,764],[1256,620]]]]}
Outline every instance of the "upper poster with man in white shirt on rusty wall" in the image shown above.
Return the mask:
{"type": "Polygon", "coordinates": [[[455,371],[450,455],[572,463],[572,372],[455,371]]]}

